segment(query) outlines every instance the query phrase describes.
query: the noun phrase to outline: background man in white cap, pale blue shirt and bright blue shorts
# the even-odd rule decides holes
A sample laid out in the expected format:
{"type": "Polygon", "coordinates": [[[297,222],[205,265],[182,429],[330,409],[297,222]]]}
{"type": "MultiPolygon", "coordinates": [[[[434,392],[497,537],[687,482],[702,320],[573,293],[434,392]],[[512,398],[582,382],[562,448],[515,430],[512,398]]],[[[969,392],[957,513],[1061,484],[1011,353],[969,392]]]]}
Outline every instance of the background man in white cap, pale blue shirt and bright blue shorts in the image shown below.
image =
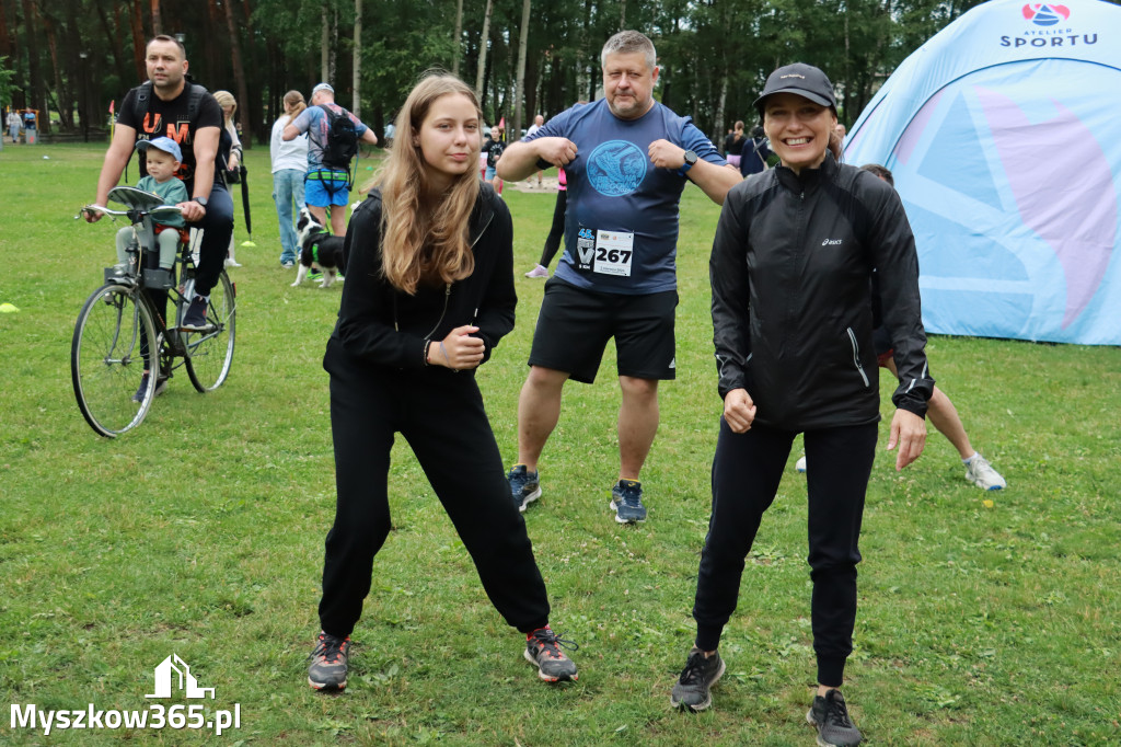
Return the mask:
{"type": "Polygon", "coordinates": [[[323,163],[323,148],[327,142],[330,125],[326,109],[349,117],[354,122],[354,133],[359,140],[378,145],[378,136],[373,130],[335,103],[335,90],[330,83],[319,83],[312,89],[312,105],[284,128],[280,138],[288,141],[295,140],[304,132],[308,133],[304,202],[321,225],[327,224],[327,210],[330,210],[331,232],[343,236],[346,233],[346,205],[350,202],[350,172],[339,168],[339,165],[328,166],[323,163]]]}

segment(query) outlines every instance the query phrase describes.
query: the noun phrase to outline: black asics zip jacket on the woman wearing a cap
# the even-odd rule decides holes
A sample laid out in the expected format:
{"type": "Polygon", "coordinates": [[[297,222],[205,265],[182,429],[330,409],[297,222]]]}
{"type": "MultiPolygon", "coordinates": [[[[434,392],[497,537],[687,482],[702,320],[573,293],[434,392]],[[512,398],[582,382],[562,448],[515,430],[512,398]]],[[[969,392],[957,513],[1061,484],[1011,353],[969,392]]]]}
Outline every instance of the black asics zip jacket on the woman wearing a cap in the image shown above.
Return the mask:
{"type": "Polygon", "coordinates": [[[891,399],[925,416],[918,258],[895,190],[830,154],[733,187],[710,260],[721,397],[743,388],[757,422],[791,431],[877,422],[873,268],[899,370],[891,399]]]}

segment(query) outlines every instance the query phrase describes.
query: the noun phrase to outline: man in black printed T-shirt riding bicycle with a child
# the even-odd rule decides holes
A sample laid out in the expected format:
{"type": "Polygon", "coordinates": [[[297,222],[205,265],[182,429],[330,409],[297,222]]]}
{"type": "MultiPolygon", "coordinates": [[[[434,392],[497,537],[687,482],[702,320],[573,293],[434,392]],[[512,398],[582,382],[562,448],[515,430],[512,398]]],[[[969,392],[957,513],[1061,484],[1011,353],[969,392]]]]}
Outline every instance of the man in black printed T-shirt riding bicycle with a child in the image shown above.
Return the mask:
{"type": "MultiPolygon", "coordinates": [[[[222,273],[233,234],[233,200],[222,179],[214,178],[222,108],[206,89],[187,80],[186,50],[175,37],[159,35],[148,42],[145,65],[148,82],[129,91],[121,102],[93,204],[104,205],[109,200],[109,191],[120,181],[138,140],[168,137],[179,146],[183,158],[176,176],[186,184],[191,200],[177,206],[184,220],[203,230],[195,292],[179,328],[204,331],[210,292],[222,273]]],[[[225,164],[221,167],[224,169],[225,164]]],[[[148,175],[143,159],[139,160],[139,168],[140,176],[148,175]]],[[[91,223],[101,216],[102,213],[95,211],[85,213],[85,220],[91,223]]],[[[149,258],[150,266],[155,268],[158,260],[158,257],[149,258]]],[[[166,294],[161,303],[166,305],[166,294]]],[[[164,305],[157,304],[157,308],[163,312],[164,305]]]]}

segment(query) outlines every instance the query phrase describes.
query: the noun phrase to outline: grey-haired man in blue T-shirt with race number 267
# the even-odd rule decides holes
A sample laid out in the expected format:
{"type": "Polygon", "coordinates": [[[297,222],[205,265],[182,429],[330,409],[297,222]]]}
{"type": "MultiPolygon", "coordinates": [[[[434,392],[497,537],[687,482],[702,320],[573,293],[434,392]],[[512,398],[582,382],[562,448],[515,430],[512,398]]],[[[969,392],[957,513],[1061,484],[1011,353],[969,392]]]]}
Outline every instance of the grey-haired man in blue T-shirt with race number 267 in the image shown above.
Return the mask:
{"type": "Polygon", "coordinates": [[[693,125],[654,100],[654,43],[614,35],[601,53],[604,98],[557,114],[510,145],[508,182],[563,166],[568,177],[565,253],[545,286],[518,400],[518,462],[509,472],[520,510],[541,495],[537,462],[560,415],[565,381],[591,384],[614,338],[622,402],[619,523],[646,520],[639,472],[658,430],[658,381],[673,379],[677,214],[685,183],[717,203],[740,175],[693,125]]]}

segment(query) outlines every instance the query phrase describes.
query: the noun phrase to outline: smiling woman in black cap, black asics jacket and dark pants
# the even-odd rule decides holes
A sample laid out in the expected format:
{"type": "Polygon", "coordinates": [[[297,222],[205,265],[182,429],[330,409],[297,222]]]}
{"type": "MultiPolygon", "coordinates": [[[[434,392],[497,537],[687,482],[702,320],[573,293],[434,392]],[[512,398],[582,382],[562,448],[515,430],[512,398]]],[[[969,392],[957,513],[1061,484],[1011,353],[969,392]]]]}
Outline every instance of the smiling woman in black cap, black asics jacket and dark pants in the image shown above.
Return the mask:
{"type": "Polygon", "coordinates": [[[877,441],[879,385],[870,277],[878,269],[883,322],[900,386],[888,449],[902,469],[923,451],[927,371],[918,260],[890,186],[839,165],[833,86],[804,64],[771,73],[756,108],[781,164],[729,193],[710,273],[719,390],[713,501],[701,556],[696,645],[674,706],[701,710],[724,663],[716,651],[735,609],[744,559],[778,491],[794,437],[807,472],[812,619],[817,693],[807,720],[819,745],[855,745],[841,697],[856,615],[858,540],[877,441]]]}

